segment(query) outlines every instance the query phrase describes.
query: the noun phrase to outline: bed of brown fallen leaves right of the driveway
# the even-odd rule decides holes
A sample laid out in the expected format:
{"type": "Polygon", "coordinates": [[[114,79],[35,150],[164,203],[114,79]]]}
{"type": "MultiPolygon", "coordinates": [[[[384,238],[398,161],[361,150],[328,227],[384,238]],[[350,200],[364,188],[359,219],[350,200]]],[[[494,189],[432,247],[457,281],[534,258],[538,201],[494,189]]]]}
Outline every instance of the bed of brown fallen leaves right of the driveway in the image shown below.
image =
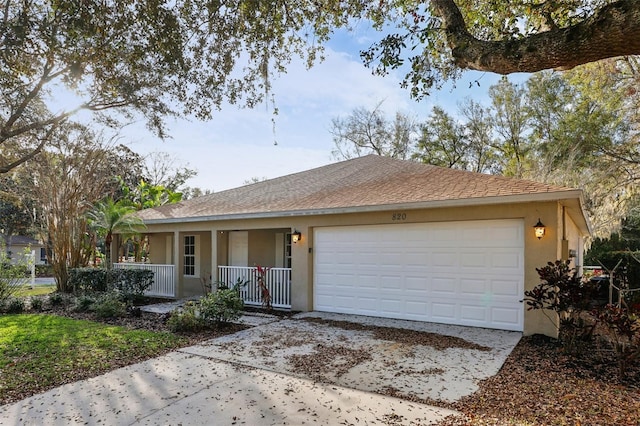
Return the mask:
{"type": "Polygon", "coordinates": [[[640,425],[640,363],[617,376],[613,359],[599,348],[579,358],[546,336],[523,337],[500,372],[453,404],[438,404],[467,417],[460,425],[640,425]]]}

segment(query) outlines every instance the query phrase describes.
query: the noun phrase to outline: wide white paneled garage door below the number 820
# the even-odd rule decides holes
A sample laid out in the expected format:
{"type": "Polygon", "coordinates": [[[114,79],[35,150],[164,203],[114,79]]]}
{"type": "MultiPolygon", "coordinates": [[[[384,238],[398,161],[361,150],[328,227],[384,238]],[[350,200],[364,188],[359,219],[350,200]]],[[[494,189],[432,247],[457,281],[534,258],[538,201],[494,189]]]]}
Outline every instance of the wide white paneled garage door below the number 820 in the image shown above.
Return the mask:
{"type": "Polygon", "coordinates": [[[314,309],[521,331],[524,224],[316,228],[314,309]]]}

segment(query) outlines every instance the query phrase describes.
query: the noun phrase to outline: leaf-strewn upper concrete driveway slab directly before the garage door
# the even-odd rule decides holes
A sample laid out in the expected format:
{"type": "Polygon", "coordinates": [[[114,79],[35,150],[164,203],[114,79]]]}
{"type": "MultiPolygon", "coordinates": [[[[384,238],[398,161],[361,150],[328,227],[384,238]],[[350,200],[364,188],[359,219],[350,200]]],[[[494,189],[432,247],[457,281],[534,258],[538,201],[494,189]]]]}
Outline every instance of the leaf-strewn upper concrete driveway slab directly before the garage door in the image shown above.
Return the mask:
{"type": "Polygon", "coordinates": [[[311,312],[182,349],[351,389],[454,402],[495,375],[521,333],[311,312]]]}

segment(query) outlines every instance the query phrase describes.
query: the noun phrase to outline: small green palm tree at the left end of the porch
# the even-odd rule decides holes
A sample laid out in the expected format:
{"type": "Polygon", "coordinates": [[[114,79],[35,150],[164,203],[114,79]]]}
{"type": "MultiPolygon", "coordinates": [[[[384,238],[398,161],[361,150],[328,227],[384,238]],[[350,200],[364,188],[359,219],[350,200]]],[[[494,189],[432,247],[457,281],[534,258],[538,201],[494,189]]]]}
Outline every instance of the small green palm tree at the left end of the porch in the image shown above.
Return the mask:
{"type": "Polygon", "coordinates": [[[107,269],[111,268],[111,243],[114,233],[134,234],[144,226],[143,221],[132,215],[136,209],[125,205],[123,202],[115,202],[113,198],[107,198],[97,203],[87,213],[89,225],[95,229],[98,235],[104,238],[107,269]]]}

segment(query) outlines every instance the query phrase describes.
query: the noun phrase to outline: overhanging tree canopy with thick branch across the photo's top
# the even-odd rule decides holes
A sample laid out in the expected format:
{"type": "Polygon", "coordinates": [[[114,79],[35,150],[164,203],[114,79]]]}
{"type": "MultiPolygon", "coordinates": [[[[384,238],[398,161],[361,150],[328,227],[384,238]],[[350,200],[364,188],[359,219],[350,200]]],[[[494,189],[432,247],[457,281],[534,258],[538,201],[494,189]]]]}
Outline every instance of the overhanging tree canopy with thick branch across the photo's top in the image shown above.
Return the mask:
{"type": "Polygon", "coordinates": [[[635,0],[6,0],[0,10],[0,172],[32,158],[81,109],[113,124],[140,113],[208,119],[254,106],[292,57],[311,65],[339,28],[365,21],[362,52],[385,74],[408,65],[419,98],[461,69],[507,74],[640,53],[635,0]],[[69,109],[48,101],[67,88],[69,109]],[[117,109],[119,116],[104,115],[117,109]]]}

